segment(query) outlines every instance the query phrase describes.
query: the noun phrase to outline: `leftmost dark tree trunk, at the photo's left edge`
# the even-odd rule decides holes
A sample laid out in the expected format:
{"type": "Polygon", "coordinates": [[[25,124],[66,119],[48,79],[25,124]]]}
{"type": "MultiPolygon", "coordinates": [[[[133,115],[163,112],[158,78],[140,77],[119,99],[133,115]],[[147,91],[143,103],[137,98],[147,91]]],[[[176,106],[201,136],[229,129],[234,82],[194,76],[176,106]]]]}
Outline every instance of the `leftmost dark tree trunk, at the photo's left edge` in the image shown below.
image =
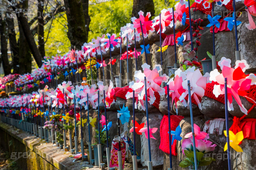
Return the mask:
{"type": "Polygon", "coordinates": [[[8,75],[11,73],[11,66],[8,61],[7,54],[7,32],[6,32],[6,22],[2,18],[2,14],[0,13],[0,41],[1,41],[1,61],[3,63],[4,75],[8,75]]]}

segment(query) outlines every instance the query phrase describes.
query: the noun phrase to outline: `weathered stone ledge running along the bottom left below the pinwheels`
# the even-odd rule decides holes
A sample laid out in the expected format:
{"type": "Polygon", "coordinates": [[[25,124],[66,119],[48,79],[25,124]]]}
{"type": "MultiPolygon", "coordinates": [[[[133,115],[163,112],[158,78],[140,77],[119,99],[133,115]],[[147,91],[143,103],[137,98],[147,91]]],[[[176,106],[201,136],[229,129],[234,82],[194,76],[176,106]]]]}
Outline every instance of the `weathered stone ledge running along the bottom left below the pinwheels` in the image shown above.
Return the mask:
{"type": "Polygon", "coordinates": [[[6,132],[8,135],[17,139],[20,143],[27,146],[31,151],[35,152],[42,159],[54,166],[56,169],[72,169],[80,170],[89,167],[92,170],[98,170],[99,168],[91,168],[91,165],[82,161],[73,162],[73,156],[70,152],[60,151],[56,146],[51,143],[46,143],[43,140],[30,136],[30,134],[17,129],[11,125],[0,122],[0,129],[6,132]]]}

